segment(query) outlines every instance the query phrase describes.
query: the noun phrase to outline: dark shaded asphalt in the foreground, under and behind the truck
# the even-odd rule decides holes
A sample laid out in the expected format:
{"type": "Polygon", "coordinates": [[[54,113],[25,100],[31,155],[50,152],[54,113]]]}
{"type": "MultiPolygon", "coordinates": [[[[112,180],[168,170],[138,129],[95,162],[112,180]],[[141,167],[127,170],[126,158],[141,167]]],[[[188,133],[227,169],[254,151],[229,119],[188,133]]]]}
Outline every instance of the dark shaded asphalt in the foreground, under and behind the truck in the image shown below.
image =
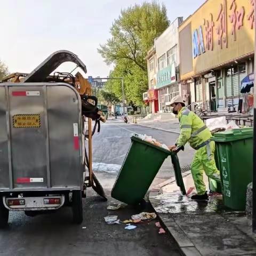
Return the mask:
{"type": "MultiPolygon", "coordinates": [[[[125,225],[107,225],[107,215],[130,219],[141,209],[126,207],[107,210],[111,202],[100,197],[84,199],[84,221],[71,223],[71,209],[64,207],[54,213],[27,217],[23,212],[12,212],[9,227],[0,232],[1,256],[111,256],[111,255],[173,255],[178,256],[177,244],[169,234],[158,234],[158,219],[138,224],[134,230],[125,225]],[[83,228],[84,227],[84,228],[83,228]]],[[[145,211],[154,210],[148,204],[145,211]]]]}

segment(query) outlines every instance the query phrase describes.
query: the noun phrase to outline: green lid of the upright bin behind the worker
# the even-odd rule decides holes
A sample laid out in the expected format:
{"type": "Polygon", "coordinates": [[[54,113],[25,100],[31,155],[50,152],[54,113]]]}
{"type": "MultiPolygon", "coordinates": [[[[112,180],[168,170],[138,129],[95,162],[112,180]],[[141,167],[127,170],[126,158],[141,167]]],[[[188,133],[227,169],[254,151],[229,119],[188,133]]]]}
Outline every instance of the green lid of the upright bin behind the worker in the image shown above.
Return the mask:
{"type": "Polygon", "coordinates": [[[227,142],[235,140],[243,140],[253,137],[253,127],[233,129],[225,132],[217,132],[213,134],[212,140],[216,142],[227,142]]]}

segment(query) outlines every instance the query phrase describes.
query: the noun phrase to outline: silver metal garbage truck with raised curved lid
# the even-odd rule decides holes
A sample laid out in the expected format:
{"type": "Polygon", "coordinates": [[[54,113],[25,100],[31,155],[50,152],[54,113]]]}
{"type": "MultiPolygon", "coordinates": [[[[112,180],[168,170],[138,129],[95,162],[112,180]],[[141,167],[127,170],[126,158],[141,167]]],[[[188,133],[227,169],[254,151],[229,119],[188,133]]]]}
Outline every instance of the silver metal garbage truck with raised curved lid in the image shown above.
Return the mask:
{"type": "Polygon", "coordinates": [[[66,61],[86,73],[74,53],[58,51],[30,74],[11,74],[0,83],[1,227],[9,211],[33,216],[64,205],[81,223],[86,187],[105,197],[92,173],[91,141],[104,119],[81,73],[54,72],[66,61]]]}

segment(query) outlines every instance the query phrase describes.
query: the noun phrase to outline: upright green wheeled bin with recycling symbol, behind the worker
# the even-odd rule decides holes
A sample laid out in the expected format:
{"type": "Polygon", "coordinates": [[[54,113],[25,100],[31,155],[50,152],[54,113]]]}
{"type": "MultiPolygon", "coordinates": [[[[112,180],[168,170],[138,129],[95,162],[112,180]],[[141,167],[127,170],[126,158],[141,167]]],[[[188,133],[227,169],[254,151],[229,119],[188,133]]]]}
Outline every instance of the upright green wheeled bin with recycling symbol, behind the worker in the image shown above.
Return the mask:
{"type": "Polygon", "coordinates": [[[216,164],[221,174],[224,204],[245,210],[246,188],[252,182],[253,128],[215,133],[216,164]]]}

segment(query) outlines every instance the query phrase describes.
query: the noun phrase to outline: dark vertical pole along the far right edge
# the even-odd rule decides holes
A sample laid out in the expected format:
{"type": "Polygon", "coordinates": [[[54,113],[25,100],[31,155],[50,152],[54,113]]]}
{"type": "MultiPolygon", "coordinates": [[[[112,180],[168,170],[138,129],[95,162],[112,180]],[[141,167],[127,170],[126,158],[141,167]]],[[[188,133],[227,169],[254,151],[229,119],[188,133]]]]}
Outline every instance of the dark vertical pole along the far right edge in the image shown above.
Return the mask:
{"type": "MultiPolygon", "coordinates": [[[[256,13],[256,3],[254,3],[254,13],[256,13]]],[[[253,109],[253,179],[252,179],[252,231],[256,233],[256,19],[254,21],[254,109],[253,109]]]]}

